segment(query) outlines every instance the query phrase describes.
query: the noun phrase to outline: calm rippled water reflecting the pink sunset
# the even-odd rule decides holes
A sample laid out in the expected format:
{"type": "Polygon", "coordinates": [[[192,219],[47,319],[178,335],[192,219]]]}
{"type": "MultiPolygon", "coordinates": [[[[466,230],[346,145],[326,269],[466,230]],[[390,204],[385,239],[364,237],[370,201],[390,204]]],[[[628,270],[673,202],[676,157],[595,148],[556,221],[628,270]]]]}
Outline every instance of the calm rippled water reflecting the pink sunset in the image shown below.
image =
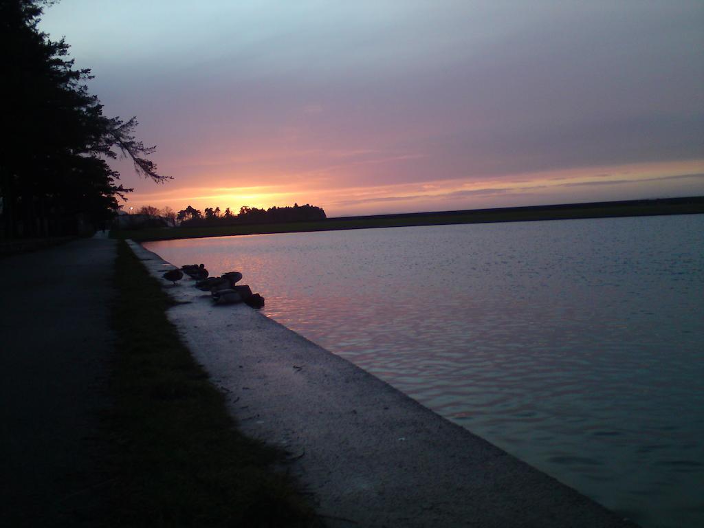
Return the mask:
{"type": "Polygon", "coordinates": [[[146,246],[644,527],[704,526],[704,215],[146,246]]]}

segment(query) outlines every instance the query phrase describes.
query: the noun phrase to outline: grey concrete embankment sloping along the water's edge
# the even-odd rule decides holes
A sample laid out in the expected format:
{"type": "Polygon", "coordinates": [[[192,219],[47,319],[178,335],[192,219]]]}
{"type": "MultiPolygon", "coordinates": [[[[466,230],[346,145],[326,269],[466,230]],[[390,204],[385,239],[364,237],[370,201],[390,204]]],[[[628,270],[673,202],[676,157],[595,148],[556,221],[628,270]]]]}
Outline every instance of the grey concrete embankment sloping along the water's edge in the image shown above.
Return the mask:
{"type": "Polygon", "coordinates": [[[291,453],[330,526],[634,526],[256,310],[168,285],[170,263],[130,246],[240,429],[291,453]]]}

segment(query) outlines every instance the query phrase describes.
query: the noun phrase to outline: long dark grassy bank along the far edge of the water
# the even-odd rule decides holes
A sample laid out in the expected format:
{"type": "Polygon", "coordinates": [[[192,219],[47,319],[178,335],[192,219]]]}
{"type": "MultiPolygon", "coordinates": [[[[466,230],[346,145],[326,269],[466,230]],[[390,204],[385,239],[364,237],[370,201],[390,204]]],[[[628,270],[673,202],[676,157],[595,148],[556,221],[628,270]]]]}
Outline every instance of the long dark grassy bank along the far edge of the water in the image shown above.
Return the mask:
{"type": "Polygon", "coordinates": [[[627,216],[686,215],[704,213],[704,196],[653,200],[566,203],[551,206],[435,211],[327,218],[316,222],[277,224],[233,224],[206,227],[172,227],[143,230],[113,230],[112,236],[135,241],[230,237],[241,234],[271,234],[310,231],[408,227],[414,225],[478,224],[486,222],[528,222],[534,220],[577,220],[627,216]]]}

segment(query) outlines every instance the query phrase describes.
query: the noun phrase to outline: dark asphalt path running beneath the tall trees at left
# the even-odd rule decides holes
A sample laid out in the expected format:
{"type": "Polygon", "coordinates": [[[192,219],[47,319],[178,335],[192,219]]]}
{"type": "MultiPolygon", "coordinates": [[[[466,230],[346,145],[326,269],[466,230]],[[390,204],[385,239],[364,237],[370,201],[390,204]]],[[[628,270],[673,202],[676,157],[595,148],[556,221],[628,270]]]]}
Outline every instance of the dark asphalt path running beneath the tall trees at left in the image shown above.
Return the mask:
{"type": "Polygon", "coordinates": [[[0,259],[0,526],[90,526],[115,241],[0,259]]]}

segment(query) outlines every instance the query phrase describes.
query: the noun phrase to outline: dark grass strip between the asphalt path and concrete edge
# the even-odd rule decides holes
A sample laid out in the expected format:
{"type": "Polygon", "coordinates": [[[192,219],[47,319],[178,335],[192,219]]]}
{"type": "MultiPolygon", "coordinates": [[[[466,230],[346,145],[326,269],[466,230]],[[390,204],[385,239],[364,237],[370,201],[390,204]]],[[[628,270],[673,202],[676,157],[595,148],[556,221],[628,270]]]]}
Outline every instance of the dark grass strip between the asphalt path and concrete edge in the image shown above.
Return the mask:
{"type": "Polygon", "coordinates": [[[284,453],[240,434],[225,397],[166,318],[173,306],[124,241],[113,306],[115,478],[111,526],[279,527],[317,524],[284,453]]]}

